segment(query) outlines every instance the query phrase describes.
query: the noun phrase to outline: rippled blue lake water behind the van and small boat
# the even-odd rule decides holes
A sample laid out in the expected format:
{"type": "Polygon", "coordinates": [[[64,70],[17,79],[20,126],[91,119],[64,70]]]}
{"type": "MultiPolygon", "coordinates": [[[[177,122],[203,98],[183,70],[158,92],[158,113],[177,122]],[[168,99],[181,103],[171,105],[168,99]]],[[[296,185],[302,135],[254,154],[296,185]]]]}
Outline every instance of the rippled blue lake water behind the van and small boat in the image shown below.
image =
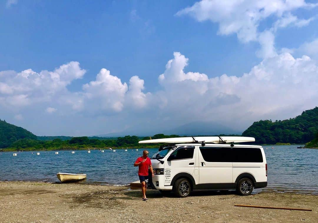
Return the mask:
{"type": "MultiPolygon", "coordinates": [[[[268,186],[259,191],[318,194],[318,149],[297,149],[302,145],[263,146],[268,166],[268,186]],[[273,147],[273,149],[272,149],[273,147]],[[267,149],[266,149],[267,148],[267,149]]],[[[133,164],[143,149],[0,152],[0,180],[59,181],[58,172],[86,173],[80,183],[126,185],[138,179],[133,164]]],[[[149,155],[157,149],[148,149],[149,155]]]]}

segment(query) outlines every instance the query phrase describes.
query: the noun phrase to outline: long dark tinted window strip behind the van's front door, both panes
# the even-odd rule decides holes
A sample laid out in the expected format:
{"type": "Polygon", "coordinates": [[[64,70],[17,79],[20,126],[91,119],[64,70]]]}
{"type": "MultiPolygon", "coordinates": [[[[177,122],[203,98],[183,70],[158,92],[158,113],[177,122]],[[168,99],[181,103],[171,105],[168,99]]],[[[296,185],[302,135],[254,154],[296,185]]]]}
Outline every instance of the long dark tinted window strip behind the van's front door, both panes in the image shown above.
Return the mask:
{"type": "Polygon", "coordinates": [[[242,162],[262,163],[263,156],[260,148],[240,147],[208,147],[200,146],[203,159],[206,162],[242,162]]]}

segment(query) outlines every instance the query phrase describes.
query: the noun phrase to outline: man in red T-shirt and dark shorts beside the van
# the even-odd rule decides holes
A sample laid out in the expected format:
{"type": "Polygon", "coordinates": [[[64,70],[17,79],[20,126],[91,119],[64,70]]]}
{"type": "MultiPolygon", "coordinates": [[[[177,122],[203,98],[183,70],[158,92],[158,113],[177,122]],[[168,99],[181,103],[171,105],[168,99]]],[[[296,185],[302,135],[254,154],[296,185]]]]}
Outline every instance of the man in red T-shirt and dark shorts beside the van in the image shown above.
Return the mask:
{"type": "Polygon", "coordinates": [[[144,150],[142,152],[142,157],[137,158],[136,162],[134,163],[134,166],[138,166],[138,176],[141,183],[141,190],[142,190],[142,200],[148,200],[146,198],[146,190],[147,190],[147,183],[149,180],[149,172],[148,169],[150,167],[150,172],[152,174],[152,177],[154,177],[154,171],[151,166],[151,161],[149,159],[149,152],[147,150],[144,150]]]}

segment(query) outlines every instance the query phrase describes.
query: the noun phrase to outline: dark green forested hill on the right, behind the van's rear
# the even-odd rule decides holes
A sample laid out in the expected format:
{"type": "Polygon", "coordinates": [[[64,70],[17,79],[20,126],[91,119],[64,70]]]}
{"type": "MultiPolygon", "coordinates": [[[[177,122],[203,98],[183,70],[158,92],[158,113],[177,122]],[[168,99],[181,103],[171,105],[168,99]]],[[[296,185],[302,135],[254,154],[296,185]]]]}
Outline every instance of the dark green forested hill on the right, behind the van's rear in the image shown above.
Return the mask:
{"type": "Polygon", "coordinates": [[[242,136],[254,137],[256,144],[305,144],[318,132],[318,107],[306,110],[288,120],[260,120],[248,127],[242,136]]]}

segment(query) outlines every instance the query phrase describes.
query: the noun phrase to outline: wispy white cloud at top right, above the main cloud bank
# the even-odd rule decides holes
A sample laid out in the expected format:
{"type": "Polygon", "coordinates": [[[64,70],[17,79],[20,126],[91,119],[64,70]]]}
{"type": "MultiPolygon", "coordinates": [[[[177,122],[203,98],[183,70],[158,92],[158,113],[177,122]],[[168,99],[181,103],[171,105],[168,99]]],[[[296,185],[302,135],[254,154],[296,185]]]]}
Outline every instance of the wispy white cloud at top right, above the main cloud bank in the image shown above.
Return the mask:
{"type": "Polygon", "coordinates": [[[189,15],[199,22],[209,20],[217,23],[218,34],[236,34],[243,43],[257,41],[262,48],[260,50],[262,52],[258,55],[268,57],[275,56],[274,42],[264,44],[264,38],[273,39],[273,32],[287,25],[301,27],[309,24],[315,17],[299,19],[292,15],[291,11],[299,8],[311,9],[316,6],[318,3],[306,3],[304,0],[202,0],[178,11],[176,15],[189,15]],[[273,26],[267,27],[267,30],[259,30],[259,24],[269,17],[276,18],[273,26]],[[269,37],[268,30],[271,30],[273,37],[269,37]]]}

